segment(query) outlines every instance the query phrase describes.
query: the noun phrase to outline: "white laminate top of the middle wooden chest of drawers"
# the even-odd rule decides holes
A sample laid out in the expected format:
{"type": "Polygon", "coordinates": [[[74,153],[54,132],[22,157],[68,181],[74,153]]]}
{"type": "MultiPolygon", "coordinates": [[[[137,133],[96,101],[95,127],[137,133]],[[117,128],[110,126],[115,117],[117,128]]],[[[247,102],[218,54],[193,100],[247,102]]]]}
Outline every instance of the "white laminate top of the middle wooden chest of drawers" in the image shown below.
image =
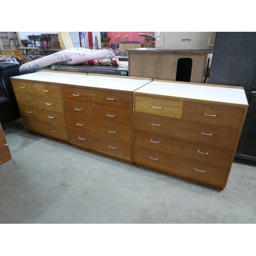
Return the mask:
{"type": "Polygon", "coordinates": [[[148,82],[151,82],[151,80],[88,75],[73,79],[72,81],[65,81],[61,83],[81,87],[93,87],[133,92],[148,82]]]}

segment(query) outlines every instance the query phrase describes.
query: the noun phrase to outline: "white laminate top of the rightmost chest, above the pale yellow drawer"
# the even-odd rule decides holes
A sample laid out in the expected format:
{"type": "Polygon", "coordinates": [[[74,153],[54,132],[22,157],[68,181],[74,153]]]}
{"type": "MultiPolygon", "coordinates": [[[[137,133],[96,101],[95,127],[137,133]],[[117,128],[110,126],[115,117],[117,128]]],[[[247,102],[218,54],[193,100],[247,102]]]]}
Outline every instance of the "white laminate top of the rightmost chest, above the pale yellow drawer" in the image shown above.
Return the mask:
{"type": "Polygon", "coordinates": [[[163,95],[170,97],[217,101],[223,103],[248,105],[245,91],[243,89],[205,86],[197,84],[174,83],[152,81],[144,87],[135,91],[136,93],[146,93],[163,95]]]}

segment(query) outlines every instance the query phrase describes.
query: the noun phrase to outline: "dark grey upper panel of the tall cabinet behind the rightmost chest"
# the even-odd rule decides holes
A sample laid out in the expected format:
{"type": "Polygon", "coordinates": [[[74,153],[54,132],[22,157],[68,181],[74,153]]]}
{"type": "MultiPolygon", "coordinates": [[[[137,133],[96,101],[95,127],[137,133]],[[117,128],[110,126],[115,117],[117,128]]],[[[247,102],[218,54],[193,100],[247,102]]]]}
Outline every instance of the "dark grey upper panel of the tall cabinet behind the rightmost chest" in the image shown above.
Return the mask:
{"type": "Polygon", "coordinates": [[[256,88],[256,32],[217,32],[208,83],[256,88]]]}

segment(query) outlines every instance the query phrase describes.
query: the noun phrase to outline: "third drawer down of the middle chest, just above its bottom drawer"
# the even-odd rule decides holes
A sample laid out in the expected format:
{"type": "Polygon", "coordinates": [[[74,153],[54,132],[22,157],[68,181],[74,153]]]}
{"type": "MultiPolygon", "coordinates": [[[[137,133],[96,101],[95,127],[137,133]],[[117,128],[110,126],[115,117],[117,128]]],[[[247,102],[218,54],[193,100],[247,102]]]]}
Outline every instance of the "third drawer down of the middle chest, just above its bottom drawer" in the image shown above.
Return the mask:
{"type": "Polygon", "coordinates": [[[131,127],[118,126],[98,120],[76,117],[69,114],[67,114],[67,121],[70,129],[79,132],[91,133],[127,143],[131,143],[132,141],[131,127]]]}

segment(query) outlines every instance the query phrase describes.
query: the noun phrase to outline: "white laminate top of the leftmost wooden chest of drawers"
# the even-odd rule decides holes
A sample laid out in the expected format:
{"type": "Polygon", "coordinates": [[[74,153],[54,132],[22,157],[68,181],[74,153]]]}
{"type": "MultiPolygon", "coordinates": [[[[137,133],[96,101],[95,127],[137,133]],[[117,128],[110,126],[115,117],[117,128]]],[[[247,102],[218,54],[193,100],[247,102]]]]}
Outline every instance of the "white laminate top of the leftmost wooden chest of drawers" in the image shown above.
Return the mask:
{"type": "Polygon", "coordinates": [[[55,72],[34,72],[30,74],[24,74],[19,76],[13,76],[12,78],[25,79],[31,81],[41,81],[41,82],[65,82],[78,77],[87,76],[84,74],[68,74],[68,73],[55,73],[55,72]]]}

